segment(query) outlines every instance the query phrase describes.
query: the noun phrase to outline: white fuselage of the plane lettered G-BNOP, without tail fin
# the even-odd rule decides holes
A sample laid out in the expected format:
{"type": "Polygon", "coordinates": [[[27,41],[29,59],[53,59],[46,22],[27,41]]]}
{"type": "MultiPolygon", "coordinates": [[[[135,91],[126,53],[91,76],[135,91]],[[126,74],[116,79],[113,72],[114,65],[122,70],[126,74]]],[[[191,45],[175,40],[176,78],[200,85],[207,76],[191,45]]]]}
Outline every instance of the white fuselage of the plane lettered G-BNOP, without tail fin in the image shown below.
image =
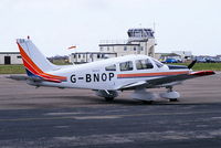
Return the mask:
{"type": "Polygon", "coordinates": [[[65,76],[67,78],[66,82],[40,82],[38,85],[116,91],[124,85],[133,84],[135,82],[148,81],[165,75],[176,75],[178,73],[190,73],[190,70],[188,68],[169,70],[167,65],[156,62],[158,61],[146,55],[127,55],[81,65],[72,65],[49,72],[50,74],[65,76]],[[147,59],[151,63],[152,67],[138,68],[137,61],[147,59]],[[124,63],[128,61],[133,68],[123,70],[124,67],[122,66],[124,66],[124,63]],[[113,65],[115,65],[114,68],[113,65]]]}

